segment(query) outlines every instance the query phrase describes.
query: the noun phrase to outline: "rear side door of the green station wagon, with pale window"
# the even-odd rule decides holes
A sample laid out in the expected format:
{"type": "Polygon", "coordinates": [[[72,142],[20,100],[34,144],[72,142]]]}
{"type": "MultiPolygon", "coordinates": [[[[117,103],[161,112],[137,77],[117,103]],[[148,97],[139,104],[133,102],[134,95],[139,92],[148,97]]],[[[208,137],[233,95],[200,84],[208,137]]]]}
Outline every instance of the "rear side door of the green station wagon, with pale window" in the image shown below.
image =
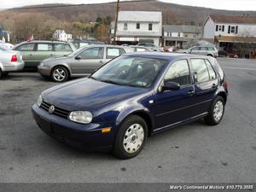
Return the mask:
{"type": "Polygon", "coordinates": [[[35,64],[39,65],[41,61],[48,59],[54,55],[53,44],[51,43],[38,43],[36,51],[34,52],[35,64]]]}

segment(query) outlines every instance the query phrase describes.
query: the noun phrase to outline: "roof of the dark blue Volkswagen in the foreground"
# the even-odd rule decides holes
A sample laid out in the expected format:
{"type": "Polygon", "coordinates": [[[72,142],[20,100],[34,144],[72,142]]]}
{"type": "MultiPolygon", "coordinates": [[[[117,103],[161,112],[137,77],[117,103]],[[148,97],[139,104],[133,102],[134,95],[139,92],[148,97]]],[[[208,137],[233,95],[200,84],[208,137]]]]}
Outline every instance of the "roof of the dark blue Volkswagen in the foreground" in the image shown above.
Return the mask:
{"type": "Polygon", "coordinates": [[[152,59],[163,59],[167,61],[175,61],[181,59],[207,59],[212,61],[212,57],[205,55],[190,55],[183,53],[166,53],[166,52],[135,52],[125,54],[126,56],[137,56],[137,57],[147,57],[152,59]]]}

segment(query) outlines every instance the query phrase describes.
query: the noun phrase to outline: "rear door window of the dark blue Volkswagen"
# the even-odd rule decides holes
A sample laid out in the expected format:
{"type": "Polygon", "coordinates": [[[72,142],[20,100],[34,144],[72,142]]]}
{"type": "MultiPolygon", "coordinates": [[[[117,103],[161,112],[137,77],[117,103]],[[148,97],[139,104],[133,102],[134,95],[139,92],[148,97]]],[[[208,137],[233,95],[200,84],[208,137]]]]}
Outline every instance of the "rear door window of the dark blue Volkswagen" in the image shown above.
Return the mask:
{"type": "Polygon", "coordinates": [[[202,83],[210,80],[207,64],[203,59],[191,59],[195,83],[202,83]]]}

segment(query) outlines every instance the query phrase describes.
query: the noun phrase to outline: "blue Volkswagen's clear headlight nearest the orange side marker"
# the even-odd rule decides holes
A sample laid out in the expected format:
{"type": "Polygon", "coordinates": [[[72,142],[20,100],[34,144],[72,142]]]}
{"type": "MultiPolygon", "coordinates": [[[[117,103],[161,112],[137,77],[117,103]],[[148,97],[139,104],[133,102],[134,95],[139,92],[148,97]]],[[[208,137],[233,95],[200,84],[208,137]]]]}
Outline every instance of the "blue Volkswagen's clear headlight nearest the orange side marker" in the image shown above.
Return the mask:
{"type": "Polygon", "coordinates": [[[80,124],[90,124],[92,114],[89,111],[73,111],[69,114],[68,118],[80,124]]]}

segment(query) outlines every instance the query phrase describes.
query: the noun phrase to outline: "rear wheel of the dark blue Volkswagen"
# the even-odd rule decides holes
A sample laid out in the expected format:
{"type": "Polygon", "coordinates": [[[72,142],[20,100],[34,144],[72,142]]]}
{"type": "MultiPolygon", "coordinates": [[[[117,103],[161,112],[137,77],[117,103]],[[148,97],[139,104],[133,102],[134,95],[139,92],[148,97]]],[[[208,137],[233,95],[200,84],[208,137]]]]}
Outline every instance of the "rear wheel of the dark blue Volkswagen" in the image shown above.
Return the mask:
{"type": "Polygon", "coordinates": [[[224,116],[225,102],[222,96],[218,96],[212,103],[209,114],[205,118],[208,125],[218,125],[224,116]]]}

